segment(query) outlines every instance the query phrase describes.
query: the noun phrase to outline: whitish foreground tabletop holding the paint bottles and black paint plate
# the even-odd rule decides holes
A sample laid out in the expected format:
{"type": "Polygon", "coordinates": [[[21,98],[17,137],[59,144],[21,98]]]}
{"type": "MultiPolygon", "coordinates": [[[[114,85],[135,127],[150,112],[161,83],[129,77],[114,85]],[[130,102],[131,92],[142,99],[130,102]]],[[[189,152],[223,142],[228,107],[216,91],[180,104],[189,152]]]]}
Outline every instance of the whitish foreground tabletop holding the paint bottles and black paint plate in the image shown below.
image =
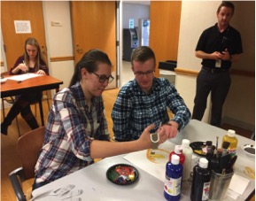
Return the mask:
{"type": "MultiPolygon", "coordinates": [[[[190,139],[190,142],[195,141],[209,141],[215,143],[216,135],[219,135],[219,144],[221,144],[222,136],[227,133],[226,130],[215,128],[206,123],[198,120],[190,120],[189,125],[179,133],[171,142],[181,144],[182,139],[190,139]]],[[[255,158],[247,157],[241,150],[240,145],[245,143],[255,144],[251,139],[243,136],[237,136],[238,149],[237,149],[237,162],[235,165],[236,174],[243,174],[244,166],[251,166],[255,170],[255,158]]],[[[33,191],[33,196],[40,195],[48,192],[51,189],[58,189],[65,187],[67,184],[74,184],[75,189],[82,189],[81,200],[165,200],[163,196],[164,183],[158,178],[144,172],[144,170],[137,167],[139,171],[139,179],[135,183],[127,186],[116,185],[106,178],[106,171],[110,166],[125,163],[130,164],[125,160],[124,155],[105,158],[96,164],[87,166],[74,174],[69,174],[55,182],[51,182],[39,189],[33,191]]],[[[136,164],[132,164],[136,166],[136,164]]],[[[165,173],[163,173],[165,174],[165,173]]],[[[251,180],[250,185],[245,190],[242,197],[237,200],[245,200],[253,189],[255,189],[254,180],[251,180]]],[[[46,194],[47,195],[47,194],[46,194]]],[[[66,199],[66,200],[74,200],[66,199]]],[[[47,196],[38,197],[35,200],[58,200],[58,197],[47,196]]],[[[190,200],[190,183],[182,182],[182,199],[190,200]]]]}

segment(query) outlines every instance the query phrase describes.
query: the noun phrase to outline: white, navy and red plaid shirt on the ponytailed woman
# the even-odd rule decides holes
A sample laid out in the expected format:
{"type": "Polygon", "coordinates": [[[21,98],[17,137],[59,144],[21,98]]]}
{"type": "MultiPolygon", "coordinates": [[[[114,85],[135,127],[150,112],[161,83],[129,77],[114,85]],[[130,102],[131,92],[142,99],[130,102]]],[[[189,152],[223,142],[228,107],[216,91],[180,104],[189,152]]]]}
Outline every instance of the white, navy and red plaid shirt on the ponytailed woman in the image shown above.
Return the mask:
{"type": "Polygon", "coordinates": [[[89,111],[77,82],[53,99],[43,150],[35,165],[35,182],[52,182],[93,163],[91,138],[109,141],[104,104],[102,97],[93,97],[89,111]]]}

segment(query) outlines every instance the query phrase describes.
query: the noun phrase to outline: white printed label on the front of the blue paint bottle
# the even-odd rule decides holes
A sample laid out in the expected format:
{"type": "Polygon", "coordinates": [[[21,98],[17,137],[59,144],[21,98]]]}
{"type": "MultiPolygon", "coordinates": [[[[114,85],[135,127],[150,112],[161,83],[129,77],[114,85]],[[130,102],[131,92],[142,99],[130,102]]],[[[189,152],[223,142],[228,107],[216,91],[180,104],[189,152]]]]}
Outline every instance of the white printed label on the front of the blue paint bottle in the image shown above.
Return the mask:
{"type": "Polygon", "coordinates": [[[169,178],[166,175],[166,181],[165,181],[165,191],[170,196],[178,196],[181,194],[182,189],[182,177],[174,179],[169,178]]]}

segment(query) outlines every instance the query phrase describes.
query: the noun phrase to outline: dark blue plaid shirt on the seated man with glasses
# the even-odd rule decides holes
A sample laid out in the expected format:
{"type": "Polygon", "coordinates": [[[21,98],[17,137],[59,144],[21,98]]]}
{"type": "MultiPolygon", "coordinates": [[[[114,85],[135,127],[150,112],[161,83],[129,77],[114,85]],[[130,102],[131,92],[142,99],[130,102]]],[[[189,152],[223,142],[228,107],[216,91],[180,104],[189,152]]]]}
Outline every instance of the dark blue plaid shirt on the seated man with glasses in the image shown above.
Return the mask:
{"type": "MultiPolygon", "coordinates": [[[[149,94],[145,94],[136,80],[129,81],[119,92],[112,109],[114,137],[117,141],[136,140],[144,128],[152,123],[169,121],[167,107],[175,114],[179,129],[190,121],[190,111],[175,87],[167,79],[154,78],[149,94]]],[[[159,127],[151,132],[156,132],[159,127]]]]}

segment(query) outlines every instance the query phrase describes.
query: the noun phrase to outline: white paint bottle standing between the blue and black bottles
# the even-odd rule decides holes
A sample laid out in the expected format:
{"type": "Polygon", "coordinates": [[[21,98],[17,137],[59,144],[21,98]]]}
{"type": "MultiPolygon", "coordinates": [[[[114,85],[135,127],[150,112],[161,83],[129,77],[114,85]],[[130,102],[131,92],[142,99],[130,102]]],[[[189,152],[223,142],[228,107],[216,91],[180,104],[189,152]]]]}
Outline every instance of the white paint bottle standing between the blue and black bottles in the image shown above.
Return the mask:
{"type": "Polygon", "coordinates": [[[188,181],[190,179],[191,163],[193,150],[190,147],[190,140],[182,140],[182,153],[185,155],[185,162],[183,164],[182,181],[188,181]]]}

